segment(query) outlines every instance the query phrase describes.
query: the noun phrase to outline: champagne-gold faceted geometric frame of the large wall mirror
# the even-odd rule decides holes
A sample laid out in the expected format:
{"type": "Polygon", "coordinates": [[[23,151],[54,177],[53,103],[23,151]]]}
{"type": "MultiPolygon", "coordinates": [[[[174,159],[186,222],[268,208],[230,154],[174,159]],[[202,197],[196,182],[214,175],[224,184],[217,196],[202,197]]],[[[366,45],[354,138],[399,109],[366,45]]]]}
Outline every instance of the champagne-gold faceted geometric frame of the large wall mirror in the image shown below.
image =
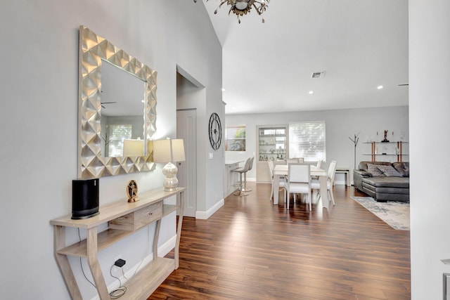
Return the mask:
{"type": "Polygon", "coordinates": [[[79,27],[78,178],[99,178],[151,171],[156,131],[157,72],[85,26],[79,27]],[[102,60],[134,74],[145,82],[143,140],[146,151],[138,157],[101,156],[102,60]]]}

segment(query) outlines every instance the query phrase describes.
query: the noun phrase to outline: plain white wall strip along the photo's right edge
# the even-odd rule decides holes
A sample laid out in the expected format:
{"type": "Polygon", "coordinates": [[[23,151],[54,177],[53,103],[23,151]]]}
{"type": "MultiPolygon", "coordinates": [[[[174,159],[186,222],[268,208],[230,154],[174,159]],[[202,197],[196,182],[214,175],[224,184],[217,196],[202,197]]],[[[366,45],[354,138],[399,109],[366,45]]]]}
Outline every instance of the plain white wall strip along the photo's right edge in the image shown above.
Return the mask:
{"type": "Polygon", "coordinates": [[[450,266],[450,1],[409,1],[411,296],[442,299],[450,266]]]}

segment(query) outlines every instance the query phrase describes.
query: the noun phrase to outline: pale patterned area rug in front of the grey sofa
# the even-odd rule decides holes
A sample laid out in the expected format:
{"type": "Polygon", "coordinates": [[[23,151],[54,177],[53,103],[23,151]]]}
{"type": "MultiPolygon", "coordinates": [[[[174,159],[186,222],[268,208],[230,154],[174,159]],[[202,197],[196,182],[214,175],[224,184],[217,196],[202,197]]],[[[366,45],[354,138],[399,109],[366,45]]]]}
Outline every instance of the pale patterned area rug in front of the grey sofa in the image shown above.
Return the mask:
{"type": "Polygon", "coordinates": [[[352,197],[372,214],[385,221],[392,228],[409,230],[409,203],[407,202],[376,202],[372,197],[352,197]]]}

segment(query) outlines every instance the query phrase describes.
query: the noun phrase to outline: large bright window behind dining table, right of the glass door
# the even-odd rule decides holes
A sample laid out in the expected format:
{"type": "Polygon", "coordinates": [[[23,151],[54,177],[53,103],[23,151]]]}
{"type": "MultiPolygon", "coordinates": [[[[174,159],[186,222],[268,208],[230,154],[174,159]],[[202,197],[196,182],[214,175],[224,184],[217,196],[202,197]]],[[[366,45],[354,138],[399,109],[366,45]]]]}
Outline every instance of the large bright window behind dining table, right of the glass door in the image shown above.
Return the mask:
{"type": "Polygon", "coordinates": [[[305,162],[325,162],[325,121],[290,123],[289,156],[304,157],[305,162]]]}

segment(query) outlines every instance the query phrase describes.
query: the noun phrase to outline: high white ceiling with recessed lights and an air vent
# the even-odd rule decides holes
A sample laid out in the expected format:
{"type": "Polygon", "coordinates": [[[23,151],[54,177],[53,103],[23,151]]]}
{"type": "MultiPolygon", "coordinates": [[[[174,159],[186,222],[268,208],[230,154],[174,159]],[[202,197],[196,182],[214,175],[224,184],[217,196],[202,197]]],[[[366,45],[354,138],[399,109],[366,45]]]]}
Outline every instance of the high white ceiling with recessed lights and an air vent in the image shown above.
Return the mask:
{"type": "Polygon", "coordinates": [[[240,24],[219,3],[203,0],[226,114],[408,105],[407,0],[271,0],[264,23],[252,9],[240,24]]]}

